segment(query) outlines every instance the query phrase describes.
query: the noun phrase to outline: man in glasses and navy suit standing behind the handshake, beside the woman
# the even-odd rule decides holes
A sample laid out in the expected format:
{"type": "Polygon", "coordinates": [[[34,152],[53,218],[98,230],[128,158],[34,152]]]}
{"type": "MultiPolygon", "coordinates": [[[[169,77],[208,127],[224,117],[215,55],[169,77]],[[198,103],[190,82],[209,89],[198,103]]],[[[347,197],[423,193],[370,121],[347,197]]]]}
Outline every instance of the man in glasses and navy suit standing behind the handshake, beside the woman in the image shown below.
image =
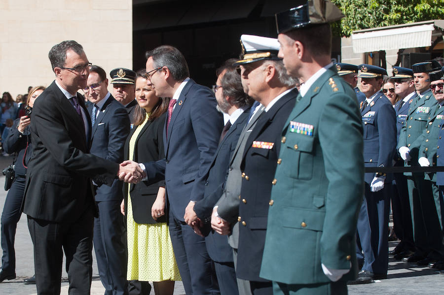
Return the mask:
{"type": "MultiPolygon", "coordinates": [[[[108,92],[107,74],[100,66],[91,66],[86,88],[91,114],[91,154],[111,162],[123,161],[123,147],[130,131],[125,108],[108,92]]],[[[123,295],[126,286],[126,249],[122,242],[123,219],[120,216],[122,182],[114,179],[111,187],[94,183],[99,217],[94,218],[94,250],[106,295],[123,295]]]]}

